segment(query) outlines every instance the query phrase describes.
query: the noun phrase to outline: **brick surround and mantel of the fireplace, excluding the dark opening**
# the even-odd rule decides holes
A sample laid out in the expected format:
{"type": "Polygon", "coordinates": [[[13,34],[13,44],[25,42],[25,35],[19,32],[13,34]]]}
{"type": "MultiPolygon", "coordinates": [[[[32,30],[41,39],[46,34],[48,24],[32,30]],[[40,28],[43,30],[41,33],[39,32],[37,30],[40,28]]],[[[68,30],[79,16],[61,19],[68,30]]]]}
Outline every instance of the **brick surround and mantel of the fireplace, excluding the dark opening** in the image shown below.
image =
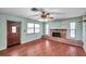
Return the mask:
{"type": "Polygon", "coordinates": [[[50,36],[52,36],[53,33],[60,33],[60,35],[61,35],[60,38],[66,38],[66,29],[64,29],[64,28],[50,29],[50,36]]]}

